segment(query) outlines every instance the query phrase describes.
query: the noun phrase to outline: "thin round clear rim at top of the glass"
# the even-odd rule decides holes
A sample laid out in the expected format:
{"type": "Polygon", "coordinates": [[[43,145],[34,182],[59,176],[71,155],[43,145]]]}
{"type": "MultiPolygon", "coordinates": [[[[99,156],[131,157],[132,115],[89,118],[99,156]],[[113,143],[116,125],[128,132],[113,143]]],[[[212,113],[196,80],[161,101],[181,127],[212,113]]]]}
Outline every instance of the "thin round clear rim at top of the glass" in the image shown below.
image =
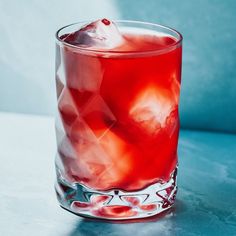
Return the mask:
{"type": "MultiPolygon", "coordinates": [[[[172,51],[176,48],[178,48],[179,46],[182,45],[182,41],[183,41],[183,36],[180,32],[178,32],[177,30],[169,27],[169,26],[165,26],[165,25],[161,25],[161,24],[156,24],[156,23],[150,23],[150,22],[145,22],[145,21],[135,21],[135,20],[112,20],[115,23],[131,23],[131,24],[140,24],[140,25],[146,25],[146,26],[153,26],[153,27],[159,27],[161,29],[165,29],[167,31],[170,31],[172,33],[175,33],[177,35],[176,36],[172,36],[176,39],[176,42],[174,42],[173,44],[170,44],[168,46],[166,46],[165,48],[162,49],[154,49],[154,50],[147,50],[147,51],[115,51],[113,49],[94,49],[94,48],[85,48],[85,47],[81,47],[78,45],[73,45],[71,43],[67,43],[65,41],[63,41],[59,34],[61,33],[61,31],[63,29],[66,29],[70,26],[74,26],[74,25],[78,25],[78,24],[89,24],[92,21],[78,21],[72,24],[68,24],[65,25],[61,28],[59,28],[56,33],[55,33],[55,37],[56,37],[56,43],[59,43],[60,45],[65,45],[67,47],[73,48],[75,50],[78,50],[84,54],[97,54],[97,55],[150,55],[150,54],[163,54],[165,52],[169,52],[172,51]]],[[[154,30],[155,31],[155,30],[154,30]]],[[[157,31],[158,32],[158,31],[157,31]]]]}

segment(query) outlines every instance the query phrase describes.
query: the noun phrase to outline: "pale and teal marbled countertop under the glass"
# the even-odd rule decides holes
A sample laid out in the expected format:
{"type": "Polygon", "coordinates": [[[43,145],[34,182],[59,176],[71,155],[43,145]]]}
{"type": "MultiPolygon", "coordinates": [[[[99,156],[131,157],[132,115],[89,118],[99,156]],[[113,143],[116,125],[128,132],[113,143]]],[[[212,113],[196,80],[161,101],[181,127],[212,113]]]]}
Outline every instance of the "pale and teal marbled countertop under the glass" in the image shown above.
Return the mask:
{"type": "Polygon", "coordinates": [[[54,120],[0,113],[0,235],[236,235],[236,135],[181,131],[175,207],[144,222],[83,219],[56,201],[54,120]]]}

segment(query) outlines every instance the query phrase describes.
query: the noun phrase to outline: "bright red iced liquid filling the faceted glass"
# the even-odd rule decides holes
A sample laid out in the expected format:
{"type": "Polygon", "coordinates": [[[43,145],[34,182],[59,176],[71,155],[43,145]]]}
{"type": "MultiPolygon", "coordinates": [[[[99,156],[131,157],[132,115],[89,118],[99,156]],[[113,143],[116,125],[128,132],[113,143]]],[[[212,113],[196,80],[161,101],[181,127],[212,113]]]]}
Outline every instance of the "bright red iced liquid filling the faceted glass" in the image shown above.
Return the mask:
{"type": "MultiPolygon", "coordinates": [[[[176,43],[169,36],[124,36],[116,51],[176,43]]],[[[104,57],[63,48],[66,85],[57,78],[57,90],[66,137],[58,151],[69,181],[132,191],[169,180],[177,164],[181,50],[104,57]]]]}

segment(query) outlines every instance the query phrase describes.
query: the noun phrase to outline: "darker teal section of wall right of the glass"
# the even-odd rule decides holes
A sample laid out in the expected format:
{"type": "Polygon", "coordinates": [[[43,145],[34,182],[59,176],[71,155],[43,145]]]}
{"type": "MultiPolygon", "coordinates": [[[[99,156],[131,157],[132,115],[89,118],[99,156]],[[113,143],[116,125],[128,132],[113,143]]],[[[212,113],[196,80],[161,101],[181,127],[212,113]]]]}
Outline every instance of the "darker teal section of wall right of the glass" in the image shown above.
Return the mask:
{"type": "Polygon", "coordinates": [[[181,124],[236,132],[236,1],[117,0],[122,19],[183,34],[181,124]]]}

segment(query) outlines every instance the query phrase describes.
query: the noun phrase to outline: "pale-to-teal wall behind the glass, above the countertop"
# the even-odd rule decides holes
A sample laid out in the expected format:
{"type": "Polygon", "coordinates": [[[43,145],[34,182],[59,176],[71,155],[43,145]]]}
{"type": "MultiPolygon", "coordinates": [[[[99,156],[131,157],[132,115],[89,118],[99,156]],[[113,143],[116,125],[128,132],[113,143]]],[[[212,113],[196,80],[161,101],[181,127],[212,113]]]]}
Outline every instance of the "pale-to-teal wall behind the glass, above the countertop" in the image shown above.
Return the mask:
{"type": "Polygon", "coordinates": [[[236,1],[0,0],[0,111],[53,116],[54,32],[108,17],[183,34],[182,128],[236,132],[236,1]]]}

